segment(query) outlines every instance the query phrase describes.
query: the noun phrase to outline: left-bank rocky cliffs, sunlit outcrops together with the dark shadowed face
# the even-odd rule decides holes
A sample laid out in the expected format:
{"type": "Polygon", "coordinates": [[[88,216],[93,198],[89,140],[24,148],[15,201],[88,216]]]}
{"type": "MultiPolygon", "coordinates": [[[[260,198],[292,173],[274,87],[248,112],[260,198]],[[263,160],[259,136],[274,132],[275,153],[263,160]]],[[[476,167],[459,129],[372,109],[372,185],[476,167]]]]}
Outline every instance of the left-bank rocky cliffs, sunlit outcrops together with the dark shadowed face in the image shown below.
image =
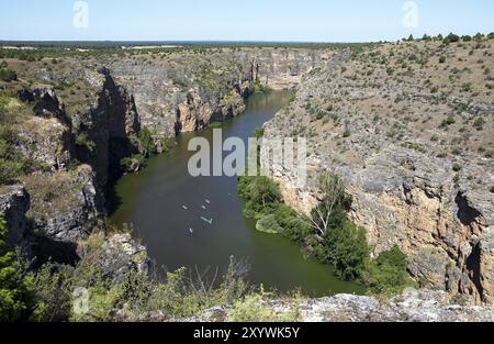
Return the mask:
{"type": "MultiPolygon", "coordinates": [[[[72,122],[52,89],[25,89],[18,95],[33,106],[34,115],[19,125],[16,144],[43,167],[23,178],[41,256],[74,251],[61,243],[74,244],[93,231],[105,215],[103,188],[117,176],[120,160],[137,152],[134,143],[141,122],[134,98],[108,69],[93,77],[100,91],[96,104],[74,119],[77,144],[72,122]],[[76,158],[87,164],[75,167],[76,158]]],[[[19,230],[13,233],[19,242],[19,230]]]]}

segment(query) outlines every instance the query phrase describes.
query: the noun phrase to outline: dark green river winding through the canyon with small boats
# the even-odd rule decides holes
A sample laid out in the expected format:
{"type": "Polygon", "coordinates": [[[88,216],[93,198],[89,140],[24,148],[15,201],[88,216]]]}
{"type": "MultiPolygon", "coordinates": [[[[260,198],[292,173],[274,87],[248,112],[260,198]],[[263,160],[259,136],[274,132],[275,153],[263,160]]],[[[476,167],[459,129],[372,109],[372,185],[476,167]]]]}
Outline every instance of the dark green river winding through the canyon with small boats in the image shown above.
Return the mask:
{"type": "MultiPolygon", "coordinates": [[[[246,112],[223,124],[223,140],[246,141],[289,97],[289,92],[250,97],[246,112]]],[[[229,256],[235,256],[250,264],[251,282],[279,291],[301,288],[311,296],[363,291],[338,280],[327,265],[304,258],[300,247],[281,235],[256,231],[255,223],[243,217],[245,203],[237,196],[236,178],[191,177],[188,160],[194,152],[188,152],[188,143],[195,136],[205,137],[212,146],[211,129],[182,134],[173,149],[149,159],[144,171],[124,176],[115,186],[112,222],[134,224],[135,235],[158,265],[168,270],[198,267],[223,273],[229,256]]]]}

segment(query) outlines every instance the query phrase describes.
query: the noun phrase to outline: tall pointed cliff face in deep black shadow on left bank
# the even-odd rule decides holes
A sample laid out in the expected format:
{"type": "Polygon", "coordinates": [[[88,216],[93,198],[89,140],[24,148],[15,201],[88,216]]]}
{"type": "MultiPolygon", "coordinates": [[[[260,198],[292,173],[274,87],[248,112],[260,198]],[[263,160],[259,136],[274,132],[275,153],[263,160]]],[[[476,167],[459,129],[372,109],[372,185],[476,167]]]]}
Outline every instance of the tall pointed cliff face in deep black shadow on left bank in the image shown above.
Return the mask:
{"type": "Polygon", "coordinates": [[[120,160],[138,152],[132,138],[141,131],[141,121],[134,97],[115,84],[108,69],[101,74],[98,103],[76,120],[78,133],[89,143],[79,145],[77,155],[105,187],[119,176],[120,160]]]}

